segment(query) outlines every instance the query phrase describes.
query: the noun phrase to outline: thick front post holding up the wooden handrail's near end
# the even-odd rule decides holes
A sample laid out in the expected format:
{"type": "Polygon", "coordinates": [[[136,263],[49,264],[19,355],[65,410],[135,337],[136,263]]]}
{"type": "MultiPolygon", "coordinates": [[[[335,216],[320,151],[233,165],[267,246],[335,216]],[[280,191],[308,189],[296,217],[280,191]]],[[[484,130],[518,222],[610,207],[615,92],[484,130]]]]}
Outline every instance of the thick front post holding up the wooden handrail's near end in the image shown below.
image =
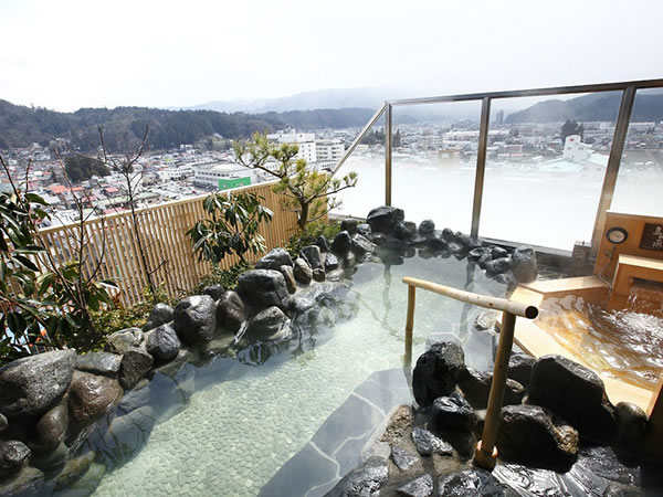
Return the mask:
{"type": "Polygon", "coordinates": [[[516,316],[504,311],[502,318],[502,329],[499,331],[499,343],[497,345],[497,355],[495,357],[495,369],[493,371],[493,381],[491,383],[491,394],[488,396],[488,406],[486,409],[486,420],[481,441],[476,444],[474,453],[474,463],[484,469],[493,469],[497,459],[497,427],[499,425],[499,414],[502,412],[502,401],[504,400],[504,389],[506,388],[506,370],[514,343],[514,328],[516,326],[516,316]]]}

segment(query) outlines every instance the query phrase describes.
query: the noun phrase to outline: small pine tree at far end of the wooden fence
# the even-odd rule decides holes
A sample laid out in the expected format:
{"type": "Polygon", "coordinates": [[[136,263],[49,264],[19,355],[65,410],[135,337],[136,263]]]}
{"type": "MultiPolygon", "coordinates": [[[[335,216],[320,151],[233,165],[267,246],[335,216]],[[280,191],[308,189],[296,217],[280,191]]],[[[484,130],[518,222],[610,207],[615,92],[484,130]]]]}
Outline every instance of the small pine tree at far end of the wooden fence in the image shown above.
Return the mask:
{"type": "Polygon", "coordinates": [[[306,160],[297,159],[299,146],[282,144],[274,146],[267,137],[254,134],[251,141],[235,144],[234,152],[238,162],[251,169],[260,169],[275,178],[275,193],[283,195],[283,208],[297,213],[299,230],[306,223],[317,221],[332,209],[340,205],[340,201],[332,195],[357,184],[357,173],[350,172],[341,179],[325,172],[309,169],[306,160]],[[275,160],[275,167],[270,165],[275,160]]]}

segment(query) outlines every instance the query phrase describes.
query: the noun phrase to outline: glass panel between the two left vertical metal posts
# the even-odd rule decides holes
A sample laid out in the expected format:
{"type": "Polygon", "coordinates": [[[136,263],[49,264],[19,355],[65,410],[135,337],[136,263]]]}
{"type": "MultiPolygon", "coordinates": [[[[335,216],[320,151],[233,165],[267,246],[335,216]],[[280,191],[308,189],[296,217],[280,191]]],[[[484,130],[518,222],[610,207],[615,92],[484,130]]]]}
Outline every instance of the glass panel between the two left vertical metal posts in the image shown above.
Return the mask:
{"type": "Polygon", "coordinates": [[[408,221],[470,232],[481,102],[393,107],[392,203],[408,221]]]}

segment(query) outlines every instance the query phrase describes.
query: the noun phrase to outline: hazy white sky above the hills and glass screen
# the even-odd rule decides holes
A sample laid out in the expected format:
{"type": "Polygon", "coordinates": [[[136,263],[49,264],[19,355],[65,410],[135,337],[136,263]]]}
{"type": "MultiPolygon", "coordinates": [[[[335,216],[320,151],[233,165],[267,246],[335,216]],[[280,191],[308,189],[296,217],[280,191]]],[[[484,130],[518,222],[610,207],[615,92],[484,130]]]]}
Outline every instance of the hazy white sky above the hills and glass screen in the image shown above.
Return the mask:
{"type": "Polygon", "coordinates": [[[0,0],[0,98],[72,110],[655,78],[662,18],[661,0],[0,0]]]}

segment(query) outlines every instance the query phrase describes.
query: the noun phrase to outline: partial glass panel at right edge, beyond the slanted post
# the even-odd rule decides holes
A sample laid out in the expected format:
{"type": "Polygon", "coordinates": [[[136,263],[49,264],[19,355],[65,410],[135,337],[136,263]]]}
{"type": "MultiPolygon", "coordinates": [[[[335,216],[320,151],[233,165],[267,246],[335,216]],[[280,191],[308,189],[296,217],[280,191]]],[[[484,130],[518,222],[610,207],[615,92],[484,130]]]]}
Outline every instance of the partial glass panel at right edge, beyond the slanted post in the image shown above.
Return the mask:
{"type": "Polygon", "coordinates": [[[662,99],[662,89],[635,93],[612,211],[663,215],[663,123],[655,114],[662,99]]]}

